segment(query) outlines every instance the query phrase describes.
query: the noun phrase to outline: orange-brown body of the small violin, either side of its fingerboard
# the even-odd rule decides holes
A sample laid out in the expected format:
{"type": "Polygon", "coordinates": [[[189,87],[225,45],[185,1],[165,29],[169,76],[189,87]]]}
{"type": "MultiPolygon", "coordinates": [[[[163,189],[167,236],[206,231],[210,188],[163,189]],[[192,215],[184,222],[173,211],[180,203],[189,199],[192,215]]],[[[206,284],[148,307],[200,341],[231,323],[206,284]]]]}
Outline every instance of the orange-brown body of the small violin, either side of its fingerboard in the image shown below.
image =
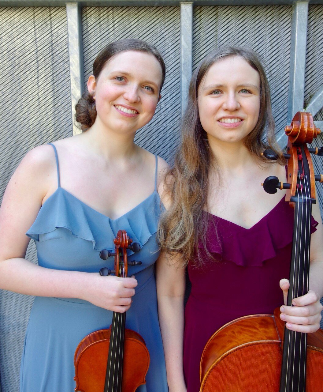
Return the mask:
{"type": "MultiPolygon", "coordinates": [[[[74,365],[78,377],[75,392],[102,392],[105,384],[106,364],[110,345],[111,328],[101,329],[86,336],[78,345],[74,365]]],[[[125,330],[123,354],[122,392],[135,392],[146,383],[149,353],[144,339],[137,332],[125,330]]]]}

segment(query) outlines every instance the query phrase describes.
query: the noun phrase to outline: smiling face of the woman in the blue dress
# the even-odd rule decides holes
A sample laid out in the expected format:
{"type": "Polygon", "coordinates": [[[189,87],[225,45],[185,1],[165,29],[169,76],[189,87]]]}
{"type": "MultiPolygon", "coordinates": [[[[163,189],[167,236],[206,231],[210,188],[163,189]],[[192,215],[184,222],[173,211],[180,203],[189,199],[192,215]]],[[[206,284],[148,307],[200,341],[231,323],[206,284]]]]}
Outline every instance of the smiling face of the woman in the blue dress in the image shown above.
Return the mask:
{"type": "Polygon", "coordinates": [[[161,81],[161,65],[152,54],[116,54],[97,79],[91,75],[88,80],[88,90],[96,101],[95,124],[122,133],[137,131],[155,113],[161,81]]]}

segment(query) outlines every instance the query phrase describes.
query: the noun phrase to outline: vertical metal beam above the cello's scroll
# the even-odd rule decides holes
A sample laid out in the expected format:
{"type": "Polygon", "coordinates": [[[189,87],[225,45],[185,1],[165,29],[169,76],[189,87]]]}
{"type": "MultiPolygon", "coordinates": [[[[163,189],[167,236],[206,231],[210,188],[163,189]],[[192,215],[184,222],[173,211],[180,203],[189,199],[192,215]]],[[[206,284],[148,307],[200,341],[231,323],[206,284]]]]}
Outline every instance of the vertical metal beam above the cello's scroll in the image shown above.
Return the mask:
{"type": "MultiPolygon", "coordinates": [[[[309,0],[294,2],[292,14],[291,60],[289,65],[288,124],[291,123],[296,112],[304,109],[308,14],[309,0]]],[[[284,131],[280,132],[277,141],[281,147],[286,146],[287,136],[284,131]]]]}

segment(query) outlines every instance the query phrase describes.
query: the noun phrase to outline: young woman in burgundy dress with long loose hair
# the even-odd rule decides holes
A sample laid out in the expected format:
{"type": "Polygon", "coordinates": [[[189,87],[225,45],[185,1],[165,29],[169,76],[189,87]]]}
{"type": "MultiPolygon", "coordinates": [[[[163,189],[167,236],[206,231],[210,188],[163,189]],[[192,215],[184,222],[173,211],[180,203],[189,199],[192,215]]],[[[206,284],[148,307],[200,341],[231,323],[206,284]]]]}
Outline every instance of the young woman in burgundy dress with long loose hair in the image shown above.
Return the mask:
{"type": "MultiPolygon", "coordinates": [[[[283,305],[294,213],[283,193],[260,186],[267,176],[286,177],[282,159],[261,155],[268,147],[277,150],[260,61],[248,48],[215,50],[192,76],[182,143],[164,184],[159,239],[168,257],[157,263],[157,293],[170,392],[199,390],[202,351],[218,328],[283,305]],[[186,266],[191,293],[184,315],[186,266]]],[[[302,332],[319,328],[322,310],[317,204],[313,216],[310,291],[294,307],[281,307],[287,328],[302,332]]]]}

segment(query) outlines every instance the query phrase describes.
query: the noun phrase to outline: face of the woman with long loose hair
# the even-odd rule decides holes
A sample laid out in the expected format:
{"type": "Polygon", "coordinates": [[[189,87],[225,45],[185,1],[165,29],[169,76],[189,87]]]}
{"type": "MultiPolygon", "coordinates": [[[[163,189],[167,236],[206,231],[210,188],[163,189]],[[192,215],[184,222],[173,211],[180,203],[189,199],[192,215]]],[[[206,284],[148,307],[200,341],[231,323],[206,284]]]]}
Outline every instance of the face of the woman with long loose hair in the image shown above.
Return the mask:
{"type": "Polygon", "coordinates": [[[240,56],[214,63],[198,87],[197,104],[210,143],[243,142],[259,117],[258,71],[240,56]]]}

